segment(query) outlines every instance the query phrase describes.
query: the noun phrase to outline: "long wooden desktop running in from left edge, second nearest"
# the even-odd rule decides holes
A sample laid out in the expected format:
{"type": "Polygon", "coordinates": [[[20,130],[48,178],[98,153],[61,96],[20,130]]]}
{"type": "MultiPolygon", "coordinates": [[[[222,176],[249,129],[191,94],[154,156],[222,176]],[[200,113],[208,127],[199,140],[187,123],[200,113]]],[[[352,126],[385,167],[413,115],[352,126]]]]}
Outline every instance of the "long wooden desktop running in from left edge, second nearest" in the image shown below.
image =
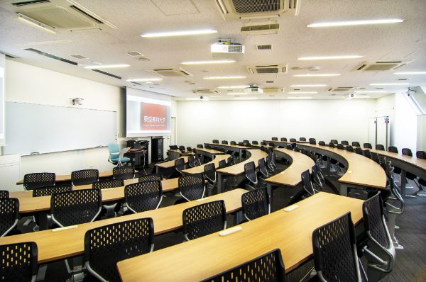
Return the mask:
{"type": "MultiPolygon", "coordinates": [[[[38,247],[38,263],[65,259],[84,253],[84,234],[95,227],[109,225],[115,222],[133,220],[136,218],[153,218],[155,235],[159,235],[182,227],[182,212],[186,208],[207,203],[210,201],[224,200],[226,213],[232,213],[241,208],[241,195],[246,193],[244,189],[235,189],[222,194],[205,198],[203,201],[191,201],[179,205],[170,205],[157,210],[149,210],[133,215],[124,215],[118,218],[109,218],[78,225],[76,228],[53,232],[52,230],[38,231],[1,237],[0,244],[16,242],[35,242],[38,247]]],[[[182,237],[183,240],[183,237],[182,237]]],[[[164,271],[164,270],[163,270],[164,271]]]]}

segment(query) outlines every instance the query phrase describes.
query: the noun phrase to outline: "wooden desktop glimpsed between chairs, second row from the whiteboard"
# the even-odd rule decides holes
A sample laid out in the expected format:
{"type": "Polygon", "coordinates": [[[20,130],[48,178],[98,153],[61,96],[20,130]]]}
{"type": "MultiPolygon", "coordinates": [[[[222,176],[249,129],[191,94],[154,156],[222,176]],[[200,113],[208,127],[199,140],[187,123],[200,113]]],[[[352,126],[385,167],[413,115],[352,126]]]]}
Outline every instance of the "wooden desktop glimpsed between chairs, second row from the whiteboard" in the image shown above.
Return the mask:
{"type": "MultiPolygon", "coordinates": [[[[125,185],[138,182],[138,179],[127,179],[125,185]]],[[[161,181],[163,193],[178,189],[178,178],[161,181]]],[[[73,190],[89,189],[92,185],[72,187],[73,190]]],[[[42,210],[50,210],[50,196],[33,197],[33,191],[12,192],[10,198],[19,199],[19,213],[35,213],[42,210]]],[[[124,198],[124,186],[102,189],[102,202],[117,201],[124,198]]]]}

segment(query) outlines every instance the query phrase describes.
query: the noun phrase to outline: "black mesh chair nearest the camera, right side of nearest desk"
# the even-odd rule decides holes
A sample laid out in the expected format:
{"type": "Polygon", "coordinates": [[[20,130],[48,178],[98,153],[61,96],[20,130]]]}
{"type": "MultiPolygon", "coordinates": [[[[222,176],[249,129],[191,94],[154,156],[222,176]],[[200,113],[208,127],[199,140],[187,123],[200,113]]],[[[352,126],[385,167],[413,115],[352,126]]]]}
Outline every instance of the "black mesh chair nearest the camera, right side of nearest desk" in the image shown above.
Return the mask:
{"type": "Polygon", "coordinates": [[[320,281],[361,281],[351,213],[315,229],[312,247],[320,281]]]}

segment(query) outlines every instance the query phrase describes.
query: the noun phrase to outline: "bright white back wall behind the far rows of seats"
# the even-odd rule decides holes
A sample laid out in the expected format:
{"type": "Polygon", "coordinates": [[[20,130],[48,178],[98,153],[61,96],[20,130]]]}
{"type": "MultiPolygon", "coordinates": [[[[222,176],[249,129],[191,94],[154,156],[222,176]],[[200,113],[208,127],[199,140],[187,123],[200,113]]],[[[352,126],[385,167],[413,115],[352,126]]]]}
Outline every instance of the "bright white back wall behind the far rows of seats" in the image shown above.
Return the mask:
{"type": "Polygon", "coordinates": [[[376,100],[178,101],[178,143],[315,137],[367,142],[376,100]]]}

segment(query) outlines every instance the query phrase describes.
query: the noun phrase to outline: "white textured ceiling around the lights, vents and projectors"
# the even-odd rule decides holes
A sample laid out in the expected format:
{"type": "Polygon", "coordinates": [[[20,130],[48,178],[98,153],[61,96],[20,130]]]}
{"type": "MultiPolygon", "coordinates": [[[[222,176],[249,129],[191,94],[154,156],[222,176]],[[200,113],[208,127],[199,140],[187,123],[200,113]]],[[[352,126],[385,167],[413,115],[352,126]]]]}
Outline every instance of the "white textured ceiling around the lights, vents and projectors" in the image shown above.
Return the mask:
{"type": "MultiPolygon", "coordinates": [[[[20,0],[16,0],[20,1],[20,0]]],[[[284,94],[257,95],[261,98],[286,98],[288,96],[312,96],[313,98],[342,98],[329,96],[330,87],[354,86],[377,90],[371,83],[398,82],[408,78],[409,86],[426,85],[426,75],[395,75],[387,72],[354,72],[363,61],[413,60],[398,72],[426,71],[426,1],[425,0],[302,0],[300,14],[288,11],[278,18],[280,30],[275,35],[243,35],[243,21],[224,21],[214,0],[77,0],[79,4],[101,16],[116,29],[58,31],[55,35],[17,21],[6,2],[0,0],[0,52],[18,57],[18,62],[33,64],[65,74],[72,74],[114,86],[132,86],[178,98],[197,97],[192,91],[215,89],[217,86],[258,84],[285,88],[284,94]],[[376,26],[352,26],[338,28],[307,28],[307,25],[324,21],[351,21],[377,18],[403,18],[403,23],[376,26]],[[142,33],[215,29],[216,34],[192,35],[175,38],[141,38],[142,33]],[[236,63],[202,66],[183,66],[183,61],[212,60],[210,45],[217,38],[233,38],[235,43],[246,46],[246,52],[236,63]],[[65,43],[37,45],[45,41],[65,40],[65,43]],[[30,43],[30,44],[28,44],[30,43]],[[273,50],[256,50],[256,45],[272,44],[273,50]],[[124,69],[103,69],[122,79],[107,77],[81,66],[53,60],[34,52],[35,48],[80,64],[130,64],[124,69]],[[140,61],[126,54],[138,51],[151,61],[140,61]],[[77,60],[70,55],[83,55],[89,60],[77,60]],[[361,55],[351,60],[300,61],[297,57],[327,55],[361,55]],[[253,64],[288,63],[287,74],[249,74],[246,66],[253,64]],[[182,67],[193,75],[190,78],[164,78],[159,85],[136,85],[126,79],[156,77],[148,69],[182,67]],[[294,70],[293,67],[302,67],[294,70]],[[319,67],[310,71],[309,67],[319,67]],[[339,77],[293,77],[294,74],[338,73],[339,77]],[[244,75],[246,79],[206,80],[203,77],[244,75]],[[265,81],[273,80],[273,84],[265,81]],[[195,82],[190,85],[185,81],[195,82]],[[318,94],[288,94],[292,84],[327,84],[300,91],[318,91],[318,94]]],[[[388,93],[407,89],[407,86],[383,86],[388,93]]],[[[226,91],[219,97],[230,99],[226,91]]],[[[239,91],[239,90],[238,90],[239,91]]],[[[368,94],[377,98],[386,94],[368,94]]]]}

